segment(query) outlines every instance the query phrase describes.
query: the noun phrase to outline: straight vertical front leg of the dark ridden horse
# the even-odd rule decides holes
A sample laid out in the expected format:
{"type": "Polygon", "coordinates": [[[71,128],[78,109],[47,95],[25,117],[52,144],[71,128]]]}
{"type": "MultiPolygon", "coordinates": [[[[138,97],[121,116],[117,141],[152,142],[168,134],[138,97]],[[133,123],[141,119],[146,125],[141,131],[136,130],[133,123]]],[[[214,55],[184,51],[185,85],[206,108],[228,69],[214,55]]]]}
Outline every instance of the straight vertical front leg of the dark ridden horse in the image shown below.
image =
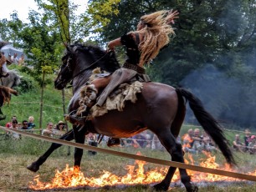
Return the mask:
{"type": "MultiPolygon", "coordinates": [[[[82,128],[79,128],[79,126],[75,127],[74,128],[75,142],[79,144],[84,144],[86,132],[87,132],[87,129],[85,128],[85,126],[83,126],[82,128]]],[[[83,157],[83,152],[84,152],[84,149],[79,149],[79,148],[74,149],[74,166],[80,167],[81,159],[83,157]]]]}

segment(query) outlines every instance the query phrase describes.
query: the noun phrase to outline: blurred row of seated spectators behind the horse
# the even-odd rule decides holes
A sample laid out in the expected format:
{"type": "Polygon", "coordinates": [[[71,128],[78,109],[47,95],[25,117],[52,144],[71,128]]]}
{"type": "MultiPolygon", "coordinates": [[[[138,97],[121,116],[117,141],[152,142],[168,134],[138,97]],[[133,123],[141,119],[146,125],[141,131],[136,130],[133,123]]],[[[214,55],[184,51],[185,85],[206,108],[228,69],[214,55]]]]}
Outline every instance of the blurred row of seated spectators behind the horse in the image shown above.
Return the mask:
{"type": "MultiPolygon", "coordinates": [[[[13,116],[11,121],[5,126],[8,129],[27,129],[31,132],[33,130],[40,130],[42,135],[49,137],[59,137],[67,132],[67,126],[61,120],[57,124],[54,124],[53,122],[47,123],[45,129],[34,129],[36,125],[33,121],[33,116],[28,117],[28,119],[23,119],[21,122],[18,122],[16,116],[13,116]]],[[[21,135],[12,132],[8,132],[7,135],[13,139],[21,138],[21,135]]],[[[242,136],[240,136],[240,134],[235,134],[232,143],[233,150],[242,153],[256,154],[256,136],[251,134],[249,129],[245,129],[243,139],[241,138],[242,136]]],[[[103,136],[100,139],[98,134],[88,134],[85,137],[86,143],[92,146],[98,146],[99,140],[102,140],[102,144],[107,144],[108,139],[110,138],[107,136],[103,136]]],[[[201,133],[200,129],[188,129],[187,134],[182,135],[182,137],[177,137],[177,142],[182,144],[182,149],[185,153],[200,154],[202,151],[216,152],[219,150],[207,133],[204,131],[201,133]]],[[[120,146],[132,147],[135,149],[145,148],[165,150],[159,139],[157,139],[156,134],[152,134],[149,130],[136,134],[131,138],[121,139],[120,146]]],[[[90,151],[90,154],[96,153],[90,151]]]]}

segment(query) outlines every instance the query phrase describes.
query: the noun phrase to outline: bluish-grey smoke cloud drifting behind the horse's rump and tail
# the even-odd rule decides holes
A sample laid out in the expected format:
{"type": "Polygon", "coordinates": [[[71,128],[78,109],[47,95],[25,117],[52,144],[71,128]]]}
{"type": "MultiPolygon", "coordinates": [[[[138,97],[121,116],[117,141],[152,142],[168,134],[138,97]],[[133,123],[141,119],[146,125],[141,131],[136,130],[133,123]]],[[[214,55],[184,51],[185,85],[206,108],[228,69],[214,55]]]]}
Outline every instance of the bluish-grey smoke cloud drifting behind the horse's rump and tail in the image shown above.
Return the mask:
{"type": "MultiPolygon", "coordinates": [[[[229,78],[212,65],[193,71],[181,84],[201,99],[205,109],[218,121],[255,127],[256,88],[252,84],[229,78]]],[[[191,110],[187,112],[186,121],[196,123],[191,110]]]]}

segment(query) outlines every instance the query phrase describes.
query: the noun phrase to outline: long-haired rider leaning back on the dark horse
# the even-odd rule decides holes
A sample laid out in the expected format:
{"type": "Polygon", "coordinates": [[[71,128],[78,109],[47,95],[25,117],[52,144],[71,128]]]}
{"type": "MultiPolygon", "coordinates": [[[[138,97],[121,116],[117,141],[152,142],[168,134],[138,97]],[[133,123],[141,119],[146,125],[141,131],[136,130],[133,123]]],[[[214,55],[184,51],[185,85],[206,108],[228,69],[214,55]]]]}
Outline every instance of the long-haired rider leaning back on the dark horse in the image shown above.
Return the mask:
{"type": "MultiPolygon", "coordinates": [[[[178,18],[177,15],[178,12],[172,12],[172,10],[144,15],[141,17],[135,32],[126,33],[120,38],[110,41],[108,51],[114,51],[116,46],[125,46],[127,56],[125,64],[111,75],[96,78],[82,88],[81,96],[83,96],[79,101],[79,109],[75,115],[67,116],[67,119],[73,124],[84,124],[84,119],[86,119],[84,117],[88,115],[89,108],[95,103],[97,106],[102,106],[109,94],[121,83],[136,80],[149,82],[150,78],[145,74],[143,66],[149,63],[151,59],[156,58],[161,48],[170,42],[169,36],[174,34],[171,23],[174,23],[174,19],[178,18]],[[97,99],[97,93],[101,90],[103,91],[97,99]]],[[[113,145],[116,141],[113,139],[113,145]]],[[[119,144],[118,141],[116,143],[119,144]]]]}

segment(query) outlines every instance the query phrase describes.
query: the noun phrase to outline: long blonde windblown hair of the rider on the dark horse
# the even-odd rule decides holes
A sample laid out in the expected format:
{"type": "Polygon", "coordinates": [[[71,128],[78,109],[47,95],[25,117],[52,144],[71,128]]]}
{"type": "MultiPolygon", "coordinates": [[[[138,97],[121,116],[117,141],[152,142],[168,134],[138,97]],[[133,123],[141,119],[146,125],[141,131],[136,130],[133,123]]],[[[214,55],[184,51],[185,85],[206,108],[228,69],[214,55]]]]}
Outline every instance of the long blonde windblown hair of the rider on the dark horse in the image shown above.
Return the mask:
{"type": "Polygon", "coordinates": [[[136,33],[142,33],[143,39],[139,44],[141,50],[140,66],[156,58],[160,49],[170,42],[170,35],[174,35],[174,30],[169,24],[172,16],[169,11],[162,10],[141,17],[141,23],[145,25],[136,33]]]}

